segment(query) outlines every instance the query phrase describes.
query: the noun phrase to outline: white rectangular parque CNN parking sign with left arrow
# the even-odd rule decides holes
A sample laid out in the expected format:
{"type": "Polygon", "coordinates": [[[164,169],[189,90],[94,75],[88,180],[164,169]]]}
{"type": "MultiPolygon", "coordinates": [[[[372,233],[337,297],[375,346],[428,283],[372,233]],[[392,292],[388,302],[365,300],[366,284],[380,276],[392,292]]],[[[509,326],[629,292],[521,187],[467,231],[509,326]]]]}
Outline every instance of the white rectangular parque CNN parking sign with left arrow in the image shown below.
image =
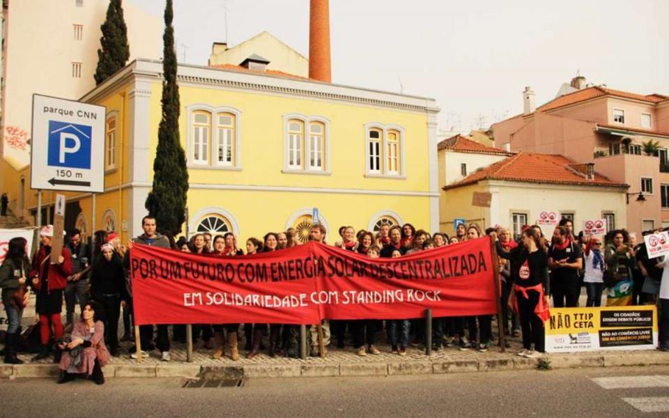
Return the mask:
{"type": "Polygon", "coordinates": [[[32,189],[105,191],[105,107],[33,95],[32,189]]]}

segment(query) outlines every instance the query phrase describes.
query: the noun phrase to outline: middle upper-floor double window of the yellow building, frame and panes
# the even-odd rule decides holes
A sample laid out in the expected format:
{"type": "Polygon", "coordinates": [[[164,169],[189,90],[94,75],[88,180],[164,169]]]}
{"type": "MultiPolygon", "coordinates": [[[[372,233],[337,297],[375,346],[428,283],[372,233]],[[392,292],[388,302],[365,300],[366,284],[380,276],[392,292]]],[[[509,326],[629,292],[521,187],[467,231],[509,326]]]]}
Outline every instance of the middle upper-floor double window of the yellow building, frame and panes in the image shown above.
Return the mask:
{"type": "Polygon", "coordinates": [[[319,116],[284,115],[284,171],[327,173],[329,121],[319,116]]]}

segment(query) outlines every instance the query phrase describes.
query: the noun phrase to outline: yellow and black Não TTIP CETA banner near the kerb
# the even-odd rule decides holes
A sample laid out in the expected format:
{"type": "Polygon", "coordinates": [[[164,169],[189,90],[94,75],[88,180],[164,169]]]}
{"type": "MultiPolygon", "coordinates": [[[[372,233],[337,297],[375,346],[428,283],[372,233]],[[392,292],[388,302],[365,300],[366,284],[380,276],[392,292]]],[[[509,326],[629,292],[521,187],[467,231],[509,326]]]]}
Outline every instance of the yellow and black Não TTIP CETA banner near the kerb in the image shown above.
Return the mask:
{"type": "Polygon", "coordinates": [[[551,308],[546,352],[652,350],[657,346],[657,309],[638,307],[551,308]]]}

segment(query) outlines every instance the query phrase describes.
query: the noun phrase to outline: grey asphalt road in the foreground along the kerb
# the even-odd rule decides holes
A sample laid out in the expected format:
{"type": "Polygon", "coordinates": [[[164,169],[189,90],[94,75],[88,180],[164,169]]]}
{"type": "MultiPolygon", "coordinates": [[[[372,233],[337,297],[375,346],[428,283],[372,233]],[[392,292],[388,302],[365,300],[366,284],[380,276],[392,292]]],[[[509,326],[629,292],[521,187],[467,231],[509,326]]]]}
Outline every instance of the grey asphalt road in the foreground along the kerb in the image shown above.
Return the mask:
{"type": "MultiPolygon", "coordinates": [[[[1,417],[668,417],[669,366],[369,378],[0,380],[1,417]],[[599,379],[601,384],[597,383],[599,379]],[[626,388],[606,389],[622,384],[626,388]],[[647,387],[643,387],[647,386],[647,387]],[[649,387],[648,387],[649,386],[649,387]],[[631,402],[663,412],[643,412],[631,402]],[[636,401],[635,401],[636,400],[636,401]]],[[[640,408],[644,408],[641,406],[640,408]]]]}

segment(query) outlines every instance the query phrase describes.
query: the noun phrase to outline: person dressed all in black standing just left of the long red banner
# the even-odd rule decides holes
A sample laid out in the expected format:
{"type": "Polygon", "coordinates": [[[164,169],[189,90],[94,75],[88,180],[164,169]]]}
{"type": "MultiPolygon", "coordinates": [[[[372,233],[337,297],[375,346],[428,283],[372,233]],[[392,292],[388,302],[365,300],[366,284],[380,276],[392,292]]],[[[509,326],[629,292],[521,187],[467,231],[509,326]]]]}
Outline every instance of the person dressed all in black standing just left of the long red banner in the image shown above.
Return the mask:
{"type": "MultiPolygon", "coordinates": [[[[100,247],[91,271],[91,297],[100,302],[105,311],[105,341],[109,353],[118,355],[118,317],[121,315],[121,300],[125,300],[125,274],[123,260],[107,243],[100,247]]],[[[123,302],[125,303],[125,302],[123,302]]]]}

